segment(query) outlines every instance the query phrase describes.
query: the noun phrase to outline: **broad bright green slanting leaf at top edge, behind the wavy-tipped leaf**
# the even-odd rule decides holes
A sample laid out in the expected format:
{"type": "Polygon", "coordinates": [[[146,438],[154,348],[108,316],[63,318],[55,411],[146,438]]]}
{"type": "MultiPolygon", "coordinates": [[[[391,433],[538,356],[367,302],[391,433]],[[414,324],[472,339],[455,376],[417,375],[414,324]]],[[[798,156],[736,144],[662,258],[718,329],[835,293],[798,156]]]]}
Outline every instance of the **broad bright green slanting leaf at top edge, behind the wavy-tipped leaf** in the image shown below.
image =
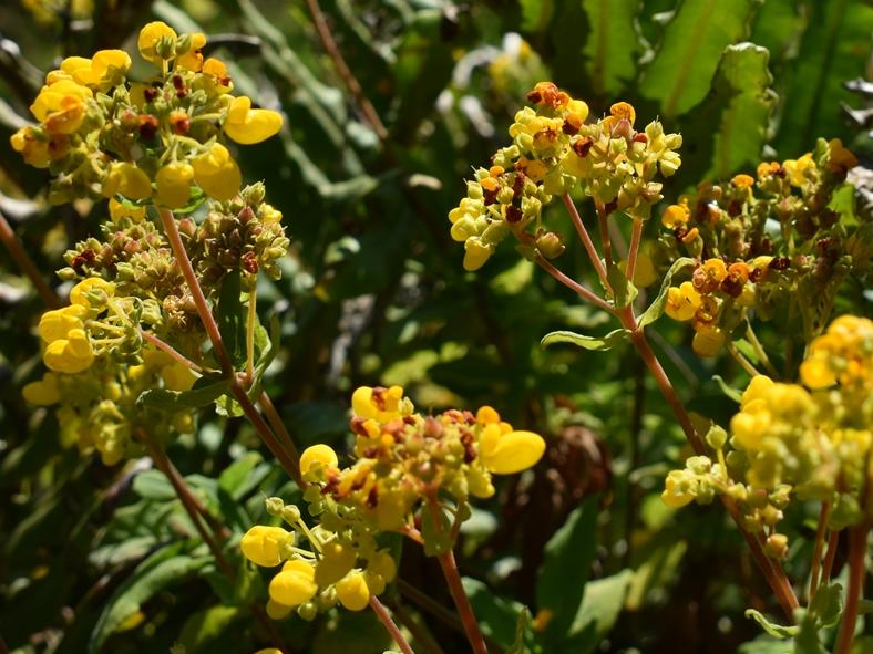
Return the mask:
{"type": "Polygon", "coordinates": [[[747,38],[761,0],[685,0],[668,23],[646,69],[643,95],[660,102],[667,117],[706,96],[721,53],[747,38]]]}

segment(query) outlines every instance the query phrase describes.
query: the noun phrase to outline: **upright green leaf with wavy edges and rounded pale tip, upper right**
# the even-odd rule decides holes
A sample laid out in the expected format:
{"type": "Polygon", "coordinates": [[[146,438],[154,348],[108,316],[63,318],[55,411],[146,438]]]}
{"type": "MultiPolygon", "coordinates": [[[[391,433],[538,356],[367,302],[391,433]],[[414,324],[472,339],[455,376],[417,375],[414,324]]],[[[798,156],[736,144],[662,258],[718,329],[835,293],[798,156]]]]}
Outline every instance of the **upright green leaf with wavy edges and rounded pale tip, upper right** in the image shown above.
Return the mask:
{"type": "Polygon", "coordinates": [[[712,93],[723,101],[709,176],[726,179],[753,169],[767,141],[777,95],[767,68],[770,54],[751,43],[729,45],[721,55],[712,93]]]}

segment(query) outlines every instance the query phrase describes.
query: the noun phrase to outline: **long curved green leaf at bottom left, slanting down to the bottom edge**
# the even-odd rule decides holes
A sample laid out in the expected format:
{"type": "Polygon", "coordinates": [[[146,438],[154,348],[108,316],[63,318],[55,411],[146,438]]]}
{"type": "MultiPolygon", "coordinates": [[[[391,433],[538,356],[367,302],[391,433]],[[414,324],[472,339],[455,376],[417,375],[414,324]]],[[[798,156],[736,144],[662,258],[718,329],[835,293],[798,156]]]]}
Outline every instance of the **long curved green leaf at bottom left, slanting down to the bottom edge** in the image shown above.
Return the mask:
{"type": "Polygon", "coordinates": [[[109,599],[91,634],[89,652],[97,654],[106,639],[158,592],[184,580],[212,561],[192,557],[188,541],[177,542],[148,557],[109,599]]]}

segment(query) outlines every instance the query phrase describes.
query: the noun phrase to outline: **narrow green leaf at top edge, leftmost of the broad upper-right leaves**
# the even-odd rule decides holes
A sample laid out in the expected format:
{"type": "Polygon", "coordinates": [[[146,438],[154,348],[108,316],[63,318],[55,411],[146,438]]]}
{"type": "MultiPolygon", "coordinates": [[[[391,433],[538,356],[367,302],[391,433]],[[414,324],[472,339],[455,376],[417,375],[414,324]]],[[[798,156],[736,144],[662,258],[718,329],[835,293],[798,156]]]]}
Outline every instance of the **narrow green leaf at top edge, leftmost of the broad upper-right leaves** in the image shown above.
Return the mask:
{"type": "Polygon", "coordinates": [[[637,24],[639,0],[582,0],[590,31],[585,70],[597,95],[616,95],[635,77],[637,53],[648,44],[637,24]]]}

